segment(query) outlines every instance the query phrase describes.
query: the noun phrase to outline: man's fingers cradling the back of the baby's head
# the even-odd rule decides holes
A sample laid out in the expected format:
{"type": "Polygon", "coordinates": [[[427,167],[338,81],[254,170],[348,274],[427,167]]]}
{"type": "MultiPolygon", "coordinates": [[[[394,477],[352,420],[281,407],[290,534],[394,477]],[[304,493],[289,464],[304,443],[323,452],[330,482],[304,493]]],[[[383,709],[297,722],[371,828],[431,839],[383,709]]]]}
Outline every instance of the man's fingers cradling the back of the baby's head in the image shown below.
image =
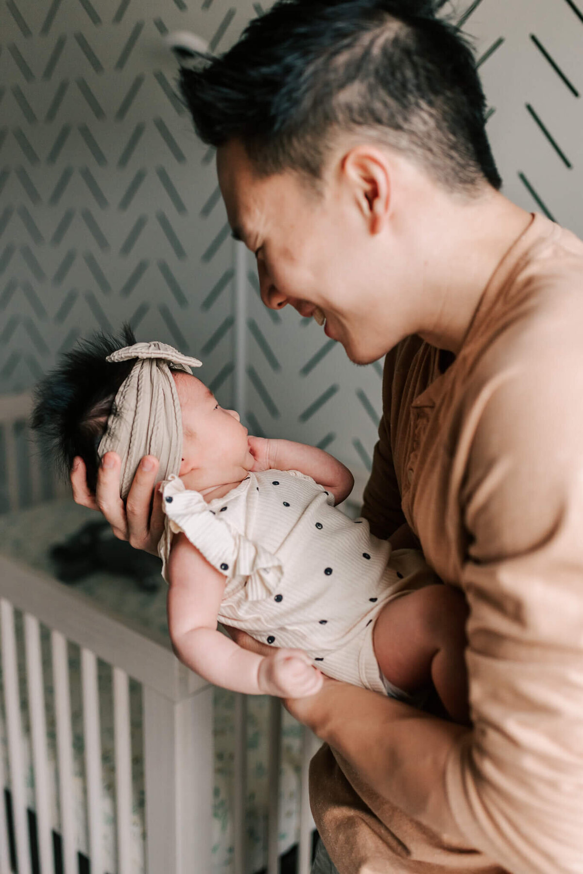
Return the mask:
{"type": "Polygon", "coordinates": [[[128,540],[135,549],[157,555],[158,541],[164,529],[162,495],[156,489],[158,461],[146,455],[135,472],[134,482],[124,504],[120,497],[120,456],[108,452],[103,456],[93,495],[87,487],[87,471],[75,458],[71,471],[73,499],[83,507],[101,510],[119,540],[128,540]]]}

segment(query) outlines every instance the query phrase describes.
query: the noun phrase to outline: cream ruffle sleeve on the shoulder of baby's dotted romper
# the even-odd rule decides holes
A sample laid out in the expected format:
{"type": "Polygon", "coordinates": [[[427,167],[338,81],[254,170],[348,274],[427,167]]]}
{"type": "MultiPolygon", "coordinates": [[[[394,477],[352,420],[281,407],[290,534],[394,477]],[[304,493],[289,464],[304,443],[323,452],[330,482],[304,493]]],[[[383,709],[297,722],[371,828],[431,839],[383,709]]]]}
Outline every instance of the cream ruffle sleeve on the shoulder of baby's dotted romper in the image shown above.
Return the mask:
{"type": "Polygon", "coordinates": [[[163,482],[163,510],[166,526],[160,541],[163,576],[170,557],[172,534],[183,531],[206,560],[227,580],[246,579],[246,600],[262,600],[275,592],[281,580],[281,560],[261,545],[253,543],[219,516],[197,491],[184,488],[178,477],[163,482]]]}

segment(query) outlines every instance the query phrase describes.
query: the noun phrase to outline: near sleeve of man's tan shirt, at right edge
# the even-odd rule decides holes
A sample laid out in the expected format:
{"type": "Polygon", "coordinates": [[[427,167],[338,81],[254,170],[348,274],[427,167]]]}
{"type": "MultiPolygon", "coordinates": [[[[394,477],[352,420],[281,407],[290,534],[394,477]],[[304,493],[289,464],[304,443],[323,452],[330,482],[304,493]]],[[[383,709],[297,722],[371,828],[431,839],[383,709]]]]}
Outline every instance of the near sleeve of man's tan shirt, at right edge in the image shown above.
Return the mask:
{"type": "Polygon", "coordinates": [[[459,444],[471,445],[460,495],[475,727],[446,788],[468,842],[513,874],[583,865],[580,362],[565,376],[543,364],[503,375],[466,411],[474,434],[459,444]]]}

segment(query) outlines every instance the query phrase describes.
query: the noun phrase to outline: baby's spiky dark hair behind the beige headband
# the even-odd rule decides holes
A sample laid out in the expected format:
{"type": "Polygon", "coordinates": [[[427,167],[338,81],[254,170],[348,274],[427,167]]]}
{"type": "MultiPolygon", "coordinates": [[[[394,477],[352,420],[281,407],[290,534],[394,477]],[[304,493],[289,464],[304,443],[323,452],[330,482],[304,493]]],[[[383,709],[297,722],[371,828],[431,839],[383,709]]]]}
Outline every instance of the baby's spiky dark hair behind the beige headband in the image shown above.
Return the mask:
{"type": "Polygon", "coordinates": [[[100,459],[97,454],[115,395],[135,361],[108,362],[117,349],[133,346],[135,336],[128,324],[119,336],[95,333],[64,353],[55,370],[36,386],[31,428],[38,434],[43,457],[68,478],[76,455],[85,461],[87,485],[97,485],[100,459]]]}

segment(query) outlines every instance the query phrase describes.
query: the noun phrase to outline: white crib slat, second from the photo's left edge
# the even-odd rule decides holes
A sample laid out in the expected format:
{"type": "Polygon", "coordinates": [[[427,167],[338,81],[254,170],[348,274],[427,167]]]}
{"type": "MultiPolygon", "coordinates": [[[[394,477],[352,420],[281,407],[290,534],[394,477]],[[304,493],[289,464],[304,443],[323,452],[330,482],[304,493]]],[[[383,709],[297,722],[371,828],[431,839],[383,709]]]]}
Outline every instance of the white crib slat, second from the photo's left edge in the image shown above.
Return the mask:
{"type": "Polygon", "coordinates": [[[34,762],[34,794],[37,808],[38,857],[41,874],[54,871],[52,856],[51,790],[46,751],[45,688],[40,649],[40,627],[36,616],[24,614],[26,648],[26,678],[31,709],[32,756],[34,762]]]}

